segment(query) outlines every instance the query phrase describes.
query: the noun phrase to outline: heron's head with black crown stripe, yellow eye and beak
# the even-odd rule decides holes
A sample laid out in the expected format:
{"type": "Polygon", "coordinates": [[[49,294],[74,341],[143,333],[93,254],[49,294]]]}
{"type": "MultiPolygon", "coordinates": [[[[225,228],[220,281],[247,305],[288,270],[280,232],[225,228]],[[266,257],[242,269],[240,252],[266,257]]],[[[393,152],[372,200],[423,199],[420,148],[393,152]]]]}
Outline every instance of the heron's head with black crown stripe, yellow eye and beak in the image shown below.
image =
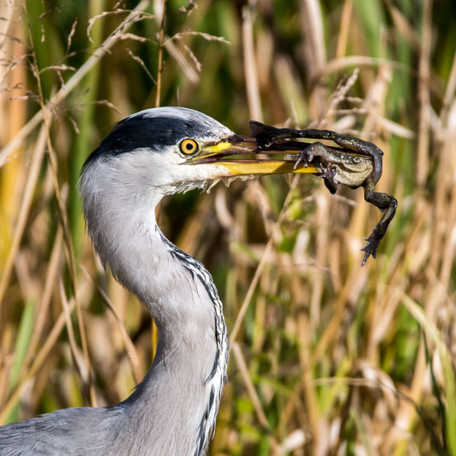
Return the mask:
{"type": "Polygon", "coordinates": [[[93,184],[98,180],[97,187],[105,182],[107,191],[121,186],[131,196],[151,192],[161,198],[224,178],[316,172],[312,166],[294,170],[294,161],[264,158],[265,153],[288,152],[284,147],[259,149],[255,138],[236,135],[193,109],[146,109],[117,123],[88,157],[81,190],[89,175],[93,184]]]}

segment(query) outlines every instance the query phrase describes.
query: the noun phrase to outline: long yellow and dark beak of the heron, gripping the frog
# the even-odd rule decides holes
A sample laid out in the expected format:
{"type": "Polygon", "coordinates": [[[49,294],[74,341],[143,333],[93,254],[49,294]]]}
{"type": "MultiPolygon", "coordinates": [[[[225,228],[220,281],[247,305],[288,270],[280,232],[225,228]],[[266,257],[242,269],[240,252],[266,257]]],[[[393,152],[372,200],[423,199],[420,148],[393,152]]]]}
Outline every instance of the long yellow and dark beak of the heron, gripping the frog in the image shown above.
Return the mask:
{"type": "Polygon", "coordinates": [[[318,173],[311,163],[307,167],[294,168],[296,159],[293,155],[299,154],[306,145],[305,142],[278,140],[269,147],[260,148],[254,137],[234,135],[220,142],[202,145],[199,154],[185,163],[224,166],[229,175],[318,173]]]}

